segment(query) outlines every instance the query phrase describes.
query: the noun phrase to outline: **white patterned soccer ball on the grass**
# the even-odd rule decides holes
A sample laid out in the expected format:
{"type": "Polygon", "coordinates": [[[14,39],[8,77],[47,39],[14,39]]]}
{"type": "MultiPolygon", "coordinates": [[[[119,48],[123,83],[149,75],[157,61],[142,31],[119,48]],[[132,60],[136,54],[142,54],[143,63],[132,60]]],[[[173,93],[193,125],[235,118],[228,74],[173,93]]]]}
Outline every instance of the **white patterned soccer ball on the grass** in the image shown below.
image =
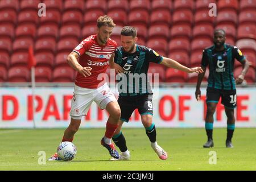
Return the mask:
{"type": "Polygon", "coordinates": [[[64,161],[72,160],[76,155],[76,146],[72,142],[61,142],[57,154],[64,161]]]}

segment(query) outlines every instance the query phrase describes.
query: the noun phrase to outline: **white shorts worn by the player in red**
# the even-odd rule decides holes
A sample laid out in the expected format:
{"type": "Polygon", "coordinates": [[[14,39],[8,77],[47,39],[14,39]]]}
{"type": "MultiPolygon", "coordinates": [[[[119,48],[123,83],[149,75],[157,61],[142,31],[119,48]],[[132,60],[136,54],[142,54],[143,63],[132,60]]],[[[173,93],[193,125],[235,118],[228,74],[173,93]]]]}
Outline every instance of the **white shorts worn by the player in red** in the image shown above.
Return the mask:
{"type": "Polygon", "coordinates": [[[71,118],[81,119],[83,115],[88,113],[93,101],[100,109],[105,109],[109,102],[117,101],[117,99],[106,83],[97,89],[86,89],[75,85],[69,113],[71,118]]]}

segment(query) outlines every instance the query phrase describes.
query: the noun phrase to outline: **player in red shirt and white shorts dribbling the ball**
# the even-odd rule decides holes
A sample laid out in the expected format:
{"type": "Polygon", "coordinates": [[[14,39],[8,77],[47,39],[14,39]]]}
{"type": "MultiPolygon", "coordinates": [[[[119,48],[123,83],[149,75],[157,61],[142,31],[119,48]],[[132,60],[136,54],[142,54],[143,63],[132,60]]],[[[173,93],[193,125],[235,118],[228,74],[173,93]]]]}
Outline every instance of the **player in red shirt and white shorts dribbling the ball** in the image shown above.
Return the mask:
{"type": "MultiPolygon", "coordinates": [[[[114,26],[112,18],[107,15],[100,16],[97,19],[97,34],[83,40],[67,58],[68,64],[77,71],[77,76],[70,111],[71,122],[64,132],[62,142],[72,142],[82,116],[87,114],[94,101],[109,113],[101,144],[108,149],[113,158],[118,159],[119,154],[111,139],[117,129],[121,110],[107,83],[102,84],[102,80],[98,80],[98,75],[106,72],[109,60],[113,60],[113,53],[117,48],[117,43],[110,39],[114,26]]],[[[56,153],[49,160],[60,158],[56,153]]]]}

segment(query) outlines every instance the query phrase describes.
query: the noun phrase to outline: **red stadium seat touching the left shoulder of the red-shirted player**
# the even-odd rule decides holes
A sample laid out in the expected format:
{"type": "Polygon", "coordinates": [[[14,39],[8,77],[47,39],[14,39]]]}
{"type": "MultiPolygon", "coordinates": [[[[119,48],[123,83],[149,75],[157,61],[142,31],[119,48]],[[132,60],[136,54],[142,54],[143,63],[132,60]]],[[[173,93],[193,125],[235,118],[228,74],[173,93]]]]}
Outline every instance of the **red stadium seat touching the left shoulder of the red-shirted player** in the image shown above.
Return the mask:
{"type": "Polygon", "coordinates": [[[76,38],[65,38],[61,39],[57,43],[57,52],[69,51],[71,52],[79,44],[79,40],[76,38]]]}

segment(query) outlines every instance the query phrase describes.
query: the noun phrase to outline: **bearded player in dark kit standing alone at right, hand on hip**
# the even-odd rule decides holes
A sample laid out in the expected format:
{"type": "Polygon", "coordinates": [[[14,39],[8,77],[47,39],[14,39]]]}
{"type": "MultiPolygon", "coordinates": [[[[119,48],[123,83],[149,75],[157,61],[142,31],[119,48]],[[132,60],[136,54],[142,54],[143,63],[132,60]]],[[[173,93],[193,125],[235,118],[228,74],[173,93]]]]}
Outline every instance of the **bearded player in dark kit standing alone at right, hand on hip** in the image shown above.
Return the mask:
{"type": "MultiPolygon", "coordinates": [[[[209,65],[209,77],[207,87],[207,115],[205,118],[205,130],[207,132],[208,141],[203,147],[213,147],[213,114],[216,110],[218,100],[221,97],[221,104],[225,106],[225,113],[228,117],[226,147],[232,148],[232,137],[235,129],[234,108],[236,107],[236,84],[241,84],[247,70],[249,69],[249,61],[242,55],[240,49],[236,46],[225,44],[225,31],[217,29],[214,31],[214,45],[204,49],[201,61],[201,67],[205,73],[205,69],[209,65]],[[240,61],[243,65],[241,75],[234,79],[233,68],[234,59],[240,61]]],[[[204,73],[200,73],[195,96],[197,101],[200,100],[200,85],[203,80],[204,73]]]]}

